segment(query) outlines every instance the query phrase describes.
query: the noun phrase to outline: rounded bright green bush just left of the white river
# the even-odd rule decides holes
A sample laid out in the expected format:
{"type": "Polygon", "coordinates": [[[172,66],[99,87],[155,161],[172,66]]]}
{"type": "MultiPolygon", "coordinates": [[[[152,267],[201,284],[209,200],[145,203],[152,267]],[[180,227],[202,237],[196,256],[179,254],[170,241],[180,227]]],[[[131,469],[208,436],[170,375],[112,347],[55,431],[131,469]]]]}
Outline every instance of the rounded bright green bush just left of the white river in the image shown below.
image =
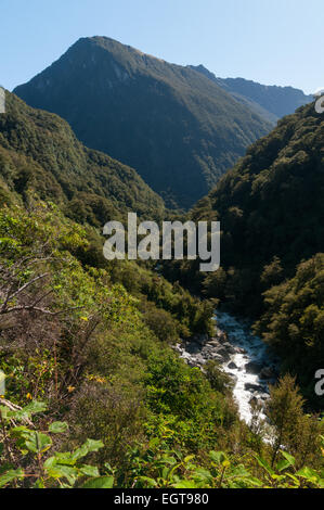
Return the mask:
{"type": "Polygon", "coordinates": [[[148,360],[147,401],[154,412],[148,434],[168,436],[168,443],[189,451],[212,447],[223,430],[236,422],[231,400],[216,393],[198,369],[190,369],[176,355],[164,353],[148,360]]]}

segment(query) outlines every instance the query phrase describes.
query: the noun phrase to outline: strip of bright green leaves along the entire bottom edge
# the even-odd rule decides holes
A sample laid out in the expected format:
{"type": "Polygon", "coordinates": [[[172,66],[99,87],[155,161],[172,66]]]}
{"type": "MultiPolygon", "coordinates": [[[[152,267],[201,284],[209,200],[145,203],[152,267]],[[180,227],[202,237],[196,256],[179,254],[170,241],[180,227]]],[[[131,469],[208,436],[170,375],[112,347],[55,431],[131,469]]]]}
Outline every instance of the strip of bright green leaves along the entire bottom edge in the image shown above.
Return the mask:
{"type": "Polygon", "coordinates": [[[122,469],[105,463],[105,474],[100,475],[98,467],[83,460],[104,447],[101,441],[87,439],[72,451],[53,452],[52,434],[65,433],[67,423],[52,422],[46,432],[40,432],[30,419],[43,413],[47,406],[33,401],[23,409],[10,410],[12,406],[5,404],[0,407],[2,456],[4,451],[0,488],[112,488],[117,480],[125,488],[324,487],[323,473],[308,467],[298,470],[295,457],[286,451],[281,451],[281,459],[273,467],[255,456],[257,463],[251,457],[245,459],[247,468],[223,451],[209,451],[202,464],[195,455],[172,449],[159,437],[153,437],[146,448],[130,449],[122,469]],[[17,462],[24,468],[17,468],[17,462]]]}

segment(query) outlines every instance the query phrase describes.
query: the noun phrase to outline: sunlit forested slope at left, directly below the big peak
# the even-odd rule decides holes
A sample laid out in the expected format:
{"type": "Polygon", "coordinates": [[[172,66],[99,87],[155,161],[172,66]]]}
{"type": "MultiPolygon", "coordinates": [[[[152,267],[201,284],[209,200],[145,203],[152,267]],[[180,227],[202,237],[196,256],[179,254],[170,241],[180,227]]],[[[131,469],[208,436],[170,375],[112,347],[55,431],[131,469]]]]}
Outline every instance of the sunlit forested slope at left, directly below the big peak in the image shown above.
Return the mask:
{"type": "Polygon", "coordinates": [[[132,168],[87,149],[65,120],[9,92],[0,115],[0,177],[2,202],[5,187],[25,200],[36,192],[79,222],[102,227],[127,211],[157,218],[164,212],[163,200],[132,168]]]}

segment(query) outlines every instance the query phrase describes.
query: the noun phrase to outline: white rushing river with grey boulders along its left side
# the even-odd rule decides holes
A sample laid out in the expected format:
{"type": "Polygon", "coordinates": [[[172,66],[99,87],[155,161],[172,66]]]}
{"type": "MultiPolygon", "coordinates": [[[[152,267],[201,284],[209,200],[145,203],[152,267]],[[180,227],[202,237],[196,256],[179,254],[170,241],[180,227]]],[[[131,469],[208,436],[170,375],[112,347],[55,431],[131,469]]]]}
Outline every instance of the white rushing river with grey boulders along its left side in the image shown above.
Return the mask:
{"type": "MultiPolygon", "coordinates": [[[[192,367],[204,368],[213,359],[234,382],[233,395],[239,416],[247,423],[251,420],[252,401],[264,405],[269,398],[269,384],[277,377],[277,360],[258,336],[251,334],[249,324],[225,311],[217,311],[216,333],[178,344],[180,356],[192,367]]],[[[260,418],[265,418],[260,415],[260,418]]]]}

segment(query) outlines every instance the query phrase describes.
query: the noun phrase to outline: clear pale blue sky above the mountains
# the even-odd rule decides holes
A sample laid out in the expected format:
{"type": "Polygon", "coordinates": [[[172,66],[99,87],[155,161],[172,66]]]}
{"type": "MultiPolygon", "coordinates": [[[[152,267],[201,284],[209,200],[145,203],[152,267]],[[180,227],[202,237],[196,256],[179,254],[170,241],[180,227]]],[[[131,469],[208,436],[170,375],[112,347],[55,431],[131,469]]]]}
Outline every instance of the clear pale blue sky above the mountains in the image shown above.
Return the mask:
{"type": "Polygon", "coordinates": [[[323,0],[0,0],[0,84],[12,90],[79,37],[108,36],[220,77],[324,87],[323,0]]]}

